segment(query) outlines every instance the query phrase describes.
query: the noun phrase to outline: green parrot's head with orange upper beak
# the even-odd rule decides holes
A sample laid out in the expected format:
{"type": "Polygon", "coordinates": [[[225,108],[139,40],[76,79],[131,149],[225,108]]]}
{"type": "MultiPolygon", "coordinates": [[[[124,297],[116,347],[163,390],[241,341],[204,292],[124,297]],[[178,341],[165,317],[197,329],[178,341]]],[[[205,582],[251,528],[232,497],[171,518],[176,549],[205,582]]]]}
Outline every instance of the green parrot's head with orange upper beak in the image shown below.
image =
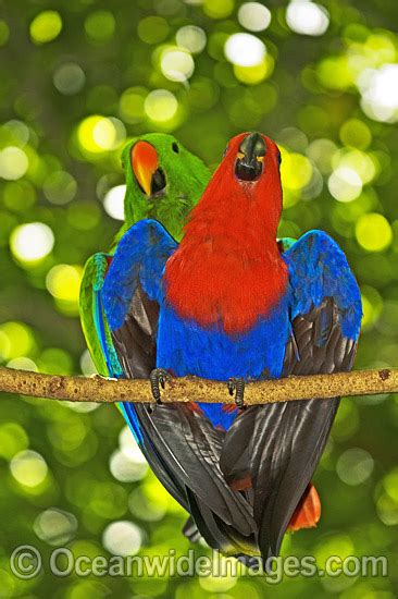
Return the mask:
{"type": "Polygon", "coordinates": [[[126,172],[126,225],[146,218],[159,220],[176,240],[186,217],[210,180],[203,162],[175,137],[148,133],[123,150],[126,172]]]}

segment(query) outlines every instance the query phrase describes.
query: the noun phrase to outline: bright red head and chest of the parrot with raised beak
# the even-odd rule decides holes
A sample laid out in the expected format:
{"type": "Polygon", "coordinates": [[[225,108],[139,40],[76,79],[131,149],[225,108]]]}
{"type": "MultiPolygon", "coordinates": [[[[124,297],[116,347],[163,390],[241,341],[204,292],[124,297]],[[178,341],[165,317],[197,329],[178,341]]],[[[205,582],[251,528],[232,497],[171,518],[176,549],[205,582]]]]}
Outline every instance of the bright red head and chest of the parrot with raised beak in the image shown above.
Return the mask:
{"type": "Polygon", "coordinates": [[[166,295],[202,326],[239,333],[286,290],[276,231],[282,211],[279,150],[260,133],[234,137],[166,264],[166,295]]]}

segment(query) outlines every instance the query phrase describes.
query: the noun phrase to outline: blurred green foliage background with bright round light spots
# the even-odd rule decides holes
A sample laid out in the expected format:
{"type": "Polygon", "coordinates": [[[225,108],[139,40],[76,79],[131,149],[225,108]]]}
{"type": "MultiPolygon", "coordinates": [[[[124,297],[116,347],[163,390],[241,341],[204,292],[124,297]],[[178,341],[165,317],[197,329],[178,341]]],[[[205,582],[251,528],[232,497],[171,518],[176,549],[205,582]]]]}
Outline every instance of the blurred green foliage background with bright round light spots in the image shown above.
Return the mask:
{"type": "MultiPolygon", "coordinates": [[[[209,164],[258,129],[282,148],[281,235],[340,243],[361,284],[358,368],[398,366],[398,45],[395,0],[0,1],[0,360],[91,371],[77,318],[86,258],[123,218],[120,151],[170,131],[209,164]]],[[[316,473],[323,515],[284,553],[386,554],[387,578],[54,578],[43,555],[177,554],[184,514],[110,406],[0,402],[0,595],[238,599],[397,589],[398,396],[345,400],[316,473]],[[127,539],[127,540],[126,540],[127,539]],[[127,545],[126,545],[127,543],[127,545]]],[[[199,548],[206,553],[206,548],[199,548]]]]}

